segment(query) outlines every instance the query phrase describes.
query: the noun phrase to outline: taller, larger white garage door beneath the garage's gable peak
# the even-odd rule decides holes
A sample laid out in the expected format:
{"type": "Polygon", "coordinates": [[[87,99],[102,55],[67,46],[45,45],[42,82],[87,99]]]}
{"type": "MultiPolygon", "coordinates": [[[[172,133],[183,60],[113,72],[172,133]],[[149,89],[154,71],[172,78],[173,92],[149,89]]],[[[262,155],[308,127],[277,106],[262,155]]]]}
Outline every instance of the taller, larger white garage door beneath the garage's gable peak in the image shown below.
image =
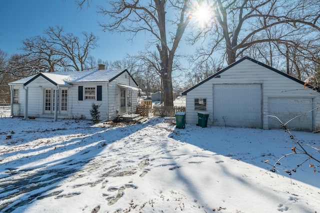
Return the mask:
{"type": "Polygon", "coordinates": [[[213,85],[213,125],[262,128],[260,84],[213,85]]]}

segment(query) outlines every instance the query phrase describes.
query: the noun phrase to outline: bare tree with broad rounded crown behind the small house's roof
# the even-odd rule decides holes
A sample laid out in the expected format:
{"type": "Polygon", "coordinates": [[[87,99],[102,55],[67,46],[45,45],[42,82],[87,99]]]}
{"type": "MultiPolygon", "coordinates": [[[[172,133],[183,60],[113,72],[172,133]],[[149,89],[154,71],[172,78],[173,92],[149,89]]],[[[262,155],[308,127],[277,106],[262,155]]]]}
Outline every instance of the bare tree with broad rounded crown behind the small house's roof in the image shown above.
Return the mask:
{"type": "Polygon", "coordinates": [[[47,72],[54,72],[58,67],[63,70],[92,69],[90,50],[97,47],[98,37],[82,32],[82,41],[72,33],[64,33],[63,27],[48,27],[43,33],[22,41],[21,50],[47,72]]]}

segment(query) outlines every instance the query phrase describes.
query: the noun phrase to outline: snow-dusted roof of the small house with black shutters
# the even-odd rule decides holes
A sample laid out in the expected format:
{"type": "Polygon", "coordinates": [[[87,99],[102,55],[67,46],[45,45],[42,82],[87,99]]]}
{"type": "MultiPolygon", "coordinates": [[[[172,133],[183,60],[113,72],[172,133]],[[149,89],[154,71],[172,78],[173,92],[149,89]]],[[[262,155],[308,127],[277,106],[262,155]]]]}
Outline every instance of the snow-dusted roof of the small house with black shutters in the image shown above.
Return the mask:
{"type": "MultiPolygon", "coordinates": [[[[127,74],[132,78],[130,73],[125,69],[111,69],[111,70],[94,70],[94,71],[73,71],[73,72],[40,72],[38,74],[11,82],[9,84],[23,84],[26,86],[39,76],[45,78],[54,85],[69,85],[83,82],[111,82],[122,73],[127,74]]],[[[134,79],[132,78],[134,81],[134,79]]],[[[134,81],[137,85],[137,83],[134,81]]]]}

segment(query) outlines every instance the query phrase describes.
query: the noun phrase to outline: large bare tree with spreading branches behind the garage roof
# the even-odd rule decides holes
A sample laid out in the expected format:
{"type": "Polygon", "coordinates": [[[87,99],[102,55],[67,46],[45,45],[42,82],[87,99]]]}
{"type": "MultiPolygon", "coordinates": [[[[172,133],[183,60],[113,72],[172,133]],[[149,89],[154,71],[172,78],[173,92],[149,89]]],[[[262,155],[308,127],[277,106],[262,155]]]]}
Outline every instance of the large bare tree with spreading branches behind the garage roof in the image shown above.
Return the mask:
{"type": "MultiPolygon", "coordinates": [[[[209,0],[207,0],[208,2],[209,0]]],[[[320,2],[314,0],[214,0],[213,17],[209,30],[194,34],[192,43],[210,38],[208,48],[202,46],[198,55],[208,56],[216,51],[225,53],[227,64],[233,63],[249,48],[258,43],[300,44],[319,34],[320,2]]],[[[272,56],[272,50],[269,52],[272,56]]],[[[305,48],[306,49],[306,48],[305,48]]],[[[270,59],[270,57],[269,57],[270,59]]],[[[272,60],[269,60],[272,65],[272,60]]]]}

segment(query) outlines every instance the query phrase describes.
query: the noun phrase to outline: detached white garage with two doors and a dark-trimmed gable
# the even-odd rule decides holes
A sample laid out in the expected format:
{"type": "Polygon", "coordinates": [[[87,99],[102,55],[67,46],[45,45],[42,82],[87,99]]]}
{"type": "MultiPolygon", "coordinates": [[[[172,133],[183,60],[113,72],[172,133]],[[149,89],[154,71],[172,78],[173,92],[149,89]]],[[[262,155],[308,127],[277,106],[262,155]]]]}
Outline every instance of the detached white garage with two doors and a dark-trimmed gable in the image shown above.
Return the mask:
{"type": "Polygon", "coordinates": [[[197,111],[209,113],[208,125],[263,129],[320,130],[320,93],[312,86],[244,57],[199,82],[186,95],[186,123],[198,122],[197,111]]]}

